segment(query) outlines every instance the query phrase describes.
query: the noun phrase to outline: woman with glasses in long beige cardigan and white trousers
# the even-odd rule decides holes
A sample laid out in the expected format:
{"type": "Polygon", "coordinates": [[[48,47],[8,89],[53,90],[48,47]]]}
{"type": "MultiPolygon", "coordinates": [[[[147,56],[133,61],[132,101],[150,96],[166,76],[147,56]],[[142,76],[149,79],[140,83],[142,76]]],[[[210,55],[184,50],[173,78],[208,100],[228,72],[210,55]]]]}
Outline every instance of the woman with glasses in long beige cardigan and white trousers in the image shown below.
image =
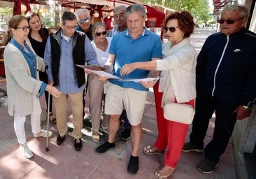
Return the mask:
{"type": "Polygon", "coordinates": [[[29,23],[22,15],[13,16],[8,22],[8,31],[4,34],[6,48],[3,59],[6,71],[8,95],[8,113],[14,115],[14,129],[17,141],[20,143],[25,158],[33,157],[33,152],[27,146],[24,122],[26,115],[31,115],[33,136],[47,137],[52,132],[41,130],[41,106],[39,97],[46,90],[53,96],[61,93],[50,85],[38,79],[38,71],[44,71],[45,64],[38,57],[28,41],[29,23]]]}

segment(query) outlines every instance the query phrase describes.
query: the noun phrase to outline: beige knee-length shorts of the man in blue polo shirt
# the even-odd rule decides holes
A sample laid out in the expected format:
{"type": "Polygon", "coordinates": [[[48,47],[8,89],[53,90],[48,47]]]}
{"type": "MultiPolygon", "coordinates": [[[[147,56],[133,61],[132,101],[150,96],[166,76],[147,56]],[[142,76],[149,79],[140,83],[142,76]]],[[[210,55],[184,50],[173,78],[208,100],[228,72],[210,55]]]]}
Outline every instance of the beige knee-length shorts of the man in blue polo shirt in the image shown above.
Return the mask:
{"type": "Polygon", "coordinates": [[[125,108],[130,124],[133,126],[140,124],[148,92],[123,88],[109,82],[105,83],[105,87],[105,114],[121,115],[125,108]]]}

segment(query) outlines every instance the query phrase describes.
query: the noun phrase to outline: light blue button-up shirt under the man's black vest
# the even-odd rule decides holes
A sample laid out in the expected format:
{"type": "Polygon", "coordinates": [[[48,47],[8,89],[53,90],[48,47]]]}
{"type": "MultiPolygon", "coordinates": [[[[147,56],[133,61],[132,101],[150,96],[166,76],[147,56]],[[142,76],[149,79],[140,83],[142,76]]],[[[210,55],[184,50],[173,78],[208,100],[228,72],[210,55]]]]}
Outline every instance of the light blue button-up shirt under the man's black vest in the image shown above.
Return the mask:
{"type": "MultiPolygon", "coordinates": [[[[57,90],[63,94],[73,94],[83,90],[84,85],[78,88],[76,79],[76,70],[73,63],[73,36],[66,41],[61,35],[60,41],[61,55],[59,61],[59,85],[57,90]]],[[[52,77],[52,58],[51,58],[51,44],[50,37],[48,37],[45,46],[45,64],[48,65],[46,73],[48,74],[48,80],[53,80],[52,77]]],[[[98,64],[97,56],[92,47],[90,40],[85,36],[85,63],[98,64]]]]}

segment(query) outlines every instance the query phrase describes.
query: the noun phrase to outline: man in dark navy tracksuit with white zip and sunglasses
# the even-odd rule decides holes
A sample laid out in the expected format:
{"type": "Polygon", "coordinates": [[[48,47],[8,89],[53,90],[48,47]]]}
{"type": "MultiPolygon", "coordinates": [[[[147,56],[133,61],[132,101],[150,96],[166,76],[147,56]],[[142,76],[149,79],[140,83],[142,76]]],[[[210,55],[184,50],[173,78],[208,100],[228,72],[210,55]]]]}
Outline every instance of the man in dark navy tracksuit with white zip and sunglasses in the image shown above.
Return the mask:
{"type": "Polygon", "coordinates": [[[197,165],[203,173],[218,166],[236,120],[250,115],[256,97],[256,34],[244,28],[248,15],[245,6],[225,7],[218,19],[221,32],[206,39],[197,58],[196,114],[183,152],[204,151],[204,160],[197,165]],[[204,148],[214,111],[213,139],[204,148]]]}

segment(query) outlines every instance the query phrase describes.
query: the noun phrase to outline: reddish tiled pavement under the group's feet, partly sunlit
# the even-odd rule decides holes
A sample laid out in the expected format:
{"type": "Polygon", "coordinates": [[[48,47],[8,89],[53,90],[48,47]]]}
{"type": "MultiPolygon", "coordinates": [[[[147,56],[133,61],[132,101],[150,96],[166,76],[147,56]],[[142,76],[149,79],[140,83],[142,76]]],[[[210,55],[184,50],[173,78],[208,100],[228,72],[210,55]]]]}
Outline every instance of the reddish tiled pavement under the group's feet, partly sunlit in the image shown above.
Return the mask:
{"type": "MultiPolygon", "coordinates": [[[[45,103],[43,99],[41,102],[45,103]]],[[[130,141],[125,143],[118,140],[115,150],[108,151],[104,155],[97,155],[94,149],[99,144],[94,143],[90,136],[84,135],[83,150],[76,152],[73,150],[73,138],[71,136],[67,137],[64,145],[56,145],[57,129],[55,125],[50,124],[50,130],[53,131],[53,135],[49,140],[50,151],[46,152],[46,139],[32,137],[31,132],[29,132],[31,131],[29,120],[27,120],[26,124],[27,141],[34,152],[34,157],[32,159],[24,159],[16,142],[13,117],[8,115],[7,107],[0,108],[0,143],[3,145],[6,140],[10,140],[13,143],[8,148],[0,151],[0,178],[155,178],[153,173],[162,166],[164,157],[160,155],[148,156],[142,152],[143,147],[152,145],[157,136],[154,105],[153,94],[149,92],[143,115],[144,130],[139,152],[140,169],[135,176],[130,176],[127,173],[127,164],[131,151],[130,141]]],[[[42,113],[42,123],[43,128],[46,129],[44,111],[42,113]]],[[[206,136],[206,143],[211,140],[213,126],[214,123],[212,121],[206,136]]],[[[188,131],[188,134],[190,134],[190,131],[188,131]]],[[[105,138],[106,136],[101,136],[101,143],[105,138]]],[[[176,173],[171,178],[236,178],[232,143],[229,143],[227,151],[221,157],[219,167],[211,174],[200,173],[196,169],[198,162],[203,157],[203,154],[196,152],[183,152],[180,156],[176,173]]]]}

